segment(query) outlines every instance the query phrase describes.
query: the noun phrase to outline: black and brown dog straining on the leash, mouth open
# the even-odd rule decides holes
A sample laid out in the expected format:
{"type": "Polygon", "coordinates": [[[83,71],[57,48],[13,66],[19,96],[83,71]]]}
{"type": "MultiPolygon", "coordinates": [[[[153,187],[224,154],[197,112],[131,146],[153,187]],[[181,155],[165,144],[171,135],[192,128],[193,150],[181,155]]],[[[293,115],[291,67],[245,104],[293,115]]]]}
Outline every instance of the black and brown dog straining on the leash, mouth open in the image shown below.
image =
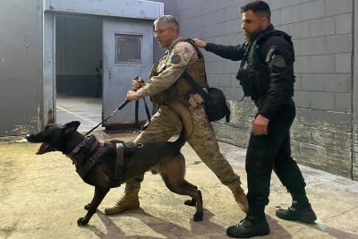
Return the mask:
{"type": "MultiPolygon", "coordinates": [[[[120,176],[120,184],[149,170],[158,172],[170,191],[192,197],[192,200],[187,200],[184,204],[196,206],[193,220],[201,221],[203,217],[201,192],[195,185],[184,179],[185,159],[180,152],[183,144],[192,133],[192,115],[180,103],[171,104],[170,107],[180,116],[183,123],[179,138],[173,142],[143,143],[141,149],[134,150],[130,155],[126,155],[124,151],[124,165],[120,176]]],[[[28,134],[26,139],[29,142],[42,143],[38,149],[38,155],[51,151],[61,151],[64,155],[69,156],[73,149],[76,149],[85,138],[80,132],[77,132],[79,125],[80,122],[78,121],[72,121],[64,125],[50,124],[41,132],[28,134]]],[[[101,156],[100,162],[92,166],[85,178],[82,178],[87,184],[95,186],[95,192],[92,201],[84,207],[88,211],[87,214],[77,220],[78,226],[88,224],[107,192],[109,192],[110,188],[115,187],[113,184],[113,178],[116,174],[115,153],[113,153],[115,149],[111,148],[112,154],[105,153],[101,156]]]]}

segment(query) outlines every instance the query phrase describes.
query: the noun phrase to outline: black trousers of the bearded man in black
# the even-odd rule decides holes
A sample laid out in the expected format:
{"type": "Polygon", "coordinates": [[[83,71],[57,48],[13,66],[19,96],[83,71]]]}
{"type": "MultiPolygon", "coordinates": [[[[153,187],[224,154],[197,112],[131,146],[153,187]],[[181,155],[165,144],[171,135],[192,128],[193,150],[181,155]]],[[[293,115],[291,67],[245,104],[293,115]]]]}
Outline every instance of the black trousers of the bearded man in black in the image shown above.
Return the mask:
{"type": "Polygon", "coordinates": [[[281,107],[269,122],[268,135],[251,134],[246,154],[247,198],[251,216],[264,215],[272,169],[288,192],[305,195],[303,175],[291,157],[289,130],[294,116],[295,107],[291,101],[281,107]]]}

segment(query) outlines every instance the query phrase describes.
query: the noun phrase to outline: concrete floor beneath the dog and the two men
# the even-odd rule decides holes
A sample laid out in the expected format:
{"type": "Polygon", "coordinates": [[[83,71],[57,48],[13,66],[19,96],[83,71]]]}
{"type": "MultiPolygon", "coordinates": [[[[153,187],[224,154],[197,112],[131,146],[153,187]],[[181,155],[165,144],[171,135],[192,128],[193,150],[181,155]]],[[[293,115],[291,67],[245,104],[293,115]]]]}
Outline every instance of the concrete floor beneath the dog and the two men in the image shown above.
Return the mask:
{"type": "MultiPolygon", "coordinates": [[[[86,127],[92,127],[90,121],[98,123],[90,111],[72,112],[76,106],[73,101],[68,104],[58,105],[69,115],[80,115],[77,119],[82,126],[88,123],[86,127]],[[83,123],[83,118],[90,121],[83,123]]],[[[136,133],[95,134],[101,140],[105,137],[130,141],[136,137],[136,133]]],[[[91,200],[93,187],[81,181],[71,160],[63,154],[35,155],[38,146],[25,141],[0,144],[0,238],[227,238],[226,227],[244,218],[231,192],[185,145],[182,152],[186,158],[186,178],[203,195],[202,222],[192,221],[194,209],[183,205],[186,197],[169,192],[160,176],[147,173],[140,192],[141,209],[115,217],[103,213],[105,207],[112,206],[121,196],[122,186],[107,194],[89,226],[79,227],[76,220],[84,216],[83,206],[91,200]]],[[[220,150],[241,175],[246,189],[245,149],[220,143],[220,150]]],[[[358,182],[300,167],[312,207],[319,217],[317,223],[304,225],[275,216],[275,210],[288,207],[291,199],[273,175],[266,208],[271,233],[263,238],[358,238],[358,182]]]]}

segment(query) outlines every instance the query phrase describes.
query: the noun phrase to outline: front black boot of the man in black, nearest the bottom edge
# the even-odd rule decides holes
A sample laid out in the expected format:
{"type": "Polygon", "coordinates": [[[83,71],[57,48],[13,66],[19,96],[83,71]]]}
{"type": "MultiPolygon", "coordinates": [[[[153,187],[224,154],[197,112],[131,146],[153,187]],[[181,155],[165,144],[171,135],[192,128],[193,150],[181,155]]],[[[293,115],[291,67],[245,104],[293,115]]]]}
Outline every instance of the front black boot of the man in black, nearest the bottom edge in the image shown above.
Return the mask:
{"type": "Polygon", "coordinates": [[[252,236],[268,235],[269,227],[265,216],[247,216],[238,225],[229,226],[226,235],[234,238],[249,238],[252,236]]]}

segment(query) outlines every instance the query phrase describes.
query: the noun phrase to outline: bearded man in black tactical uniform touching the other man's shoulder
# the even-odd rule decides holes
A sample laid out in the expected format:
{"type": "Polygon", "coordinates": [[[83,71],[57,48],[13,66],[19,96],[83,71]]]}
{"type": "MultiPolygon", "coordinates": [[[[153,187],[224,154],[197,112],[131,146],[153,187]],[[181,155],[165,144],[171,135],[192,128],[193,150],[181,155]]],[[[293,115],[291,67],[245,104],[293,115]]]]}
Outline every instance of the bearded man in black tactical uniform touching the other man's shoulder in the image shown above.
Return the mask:
{"type": "Polygon", "coordinates": [[[306,197],[303,175],[291,157],[289,130],[295,116],[293,43],[285,32],[274,29],[265,2],[253,1],[241,10],[246,38],[243,45],[221,46],[194,39],[198,47],[242,61],[236,78],[244,95],[259,107],[246,154],[249,213],[226,230],[227,235],[237,238],[269,234],[264,210],[272,169],[293,198],[290,208],[277,209],[277,217],[303,223],[316,220],[306,197]]]}

